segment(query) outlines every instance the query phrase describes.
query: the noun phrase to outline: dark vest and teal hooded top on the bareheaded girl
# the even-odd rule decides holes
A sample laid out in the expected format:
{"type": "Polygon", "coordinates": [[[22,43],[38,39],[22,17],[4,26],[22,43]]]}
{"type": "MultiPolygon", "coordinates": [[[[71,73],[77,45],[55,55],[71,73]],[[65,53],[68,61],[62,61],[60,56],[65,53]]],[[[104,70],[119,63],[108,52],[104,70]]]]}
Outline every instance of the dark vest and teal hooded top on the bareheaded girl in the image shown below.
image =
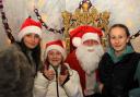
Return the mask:
{"type": "MultiPolygon", "coordinates": [[[[127,46],[119,57],[115,56],[113,48],[108,49],[98,66],[105,97],[128,97],[129,90],[138,87],[138,82],[140,82],[139,58],[140,54],[136,53],[130,46],[127,46]],[[130,80],[126,81],[128,77],[130,80]]],[[[131,92],[131,95],[135,93],[131,92]]]]}

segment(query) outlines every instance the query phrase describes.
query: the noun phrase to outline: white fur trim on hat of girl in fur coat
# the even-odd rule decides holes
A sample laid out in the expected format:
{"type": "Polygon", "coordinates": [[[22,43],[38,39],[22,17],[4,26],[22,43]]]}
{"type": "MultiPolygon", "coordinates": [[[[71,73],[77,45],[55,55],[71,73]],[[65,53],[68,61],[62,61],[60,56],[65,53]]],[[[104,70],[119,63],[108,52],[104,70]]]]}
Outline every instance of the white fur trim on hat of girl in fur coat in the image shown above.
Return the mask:
{"type": "Polygon", "coordinates": [[[24,27],[19,34],[18,34],[18,40],[21,41],[22,38],[30,34],[30,33],[34,33],[37,34],[39,37],[42,37],[42,29],[37,26],[27,26],[24,27]]]}

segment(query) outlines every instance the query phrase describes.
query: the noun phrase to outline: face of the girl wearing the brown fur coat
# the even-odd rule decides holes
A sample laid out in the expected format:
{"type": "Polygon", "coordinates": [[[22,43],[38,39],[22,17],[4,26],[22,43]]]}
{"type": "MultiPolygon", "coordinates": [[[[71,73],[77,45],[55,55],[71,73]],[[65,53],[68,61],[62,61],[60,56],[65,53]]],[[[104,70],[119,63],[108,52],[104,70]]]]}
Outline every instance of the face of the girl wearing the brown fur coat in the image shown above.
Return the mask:
{"type": "Polygon", "coordinates": [[[23,37],[25,46],[30,49],[34,49],[40,41],[40,38],[37,34],[31,33],[23,37]]]}

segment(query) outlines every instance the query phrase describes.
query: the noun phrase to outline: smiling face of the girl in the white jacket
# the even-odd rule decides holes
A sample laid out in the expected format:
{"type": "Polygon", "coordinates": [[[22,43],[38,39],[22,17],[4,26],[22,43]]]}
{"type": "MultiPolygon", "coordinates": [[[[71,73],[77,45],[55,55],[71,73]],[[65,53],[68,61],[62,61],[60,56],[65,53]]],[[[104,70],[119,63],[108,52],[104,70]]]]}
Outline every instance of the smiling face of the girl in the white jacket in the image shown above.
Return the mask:
{"type": "Polygon", "coordinates": [[[52,66],[58,66],[62,61],[62,54],[61,52],[59,52],[58,50],[50,50],[48,51],[48,62],[52,65],[52,66]]]}

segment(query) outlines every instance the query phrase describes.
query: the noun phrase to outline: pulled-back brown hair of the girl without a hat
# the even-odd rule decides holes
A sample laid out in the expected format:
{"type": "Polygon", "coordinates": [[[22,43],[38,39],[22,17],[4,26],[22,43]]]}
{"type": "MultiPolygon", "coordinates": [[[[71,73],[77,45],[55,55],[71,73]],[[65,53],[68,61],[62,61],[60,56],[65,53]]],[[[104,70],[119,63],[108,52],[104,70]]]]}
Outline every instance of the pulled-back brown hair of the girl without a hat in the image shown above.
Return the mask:
{"type": "MultiPolygon", "coordinates": [[[[114,24],[114,25],[109,28],[109,32],[108,32],[108,39],[110,38],[109,33],[110,33],[112,29],[115,28],[115,27],[120,27],[120,28],[122,28],[122,29],[125,31],[127,37],[130,37],[129,29],[128,29],[128,27],[127,27],[125,24],[114,24]]],[[[109,41],[109,43],[110,43],[110,41],[109,41]]],[[[128,45],[131,46],[130,40],[128,41],[128,45]]],[[[132,47],[132,46],[131,46],[131,47],[132,47]]]]}

